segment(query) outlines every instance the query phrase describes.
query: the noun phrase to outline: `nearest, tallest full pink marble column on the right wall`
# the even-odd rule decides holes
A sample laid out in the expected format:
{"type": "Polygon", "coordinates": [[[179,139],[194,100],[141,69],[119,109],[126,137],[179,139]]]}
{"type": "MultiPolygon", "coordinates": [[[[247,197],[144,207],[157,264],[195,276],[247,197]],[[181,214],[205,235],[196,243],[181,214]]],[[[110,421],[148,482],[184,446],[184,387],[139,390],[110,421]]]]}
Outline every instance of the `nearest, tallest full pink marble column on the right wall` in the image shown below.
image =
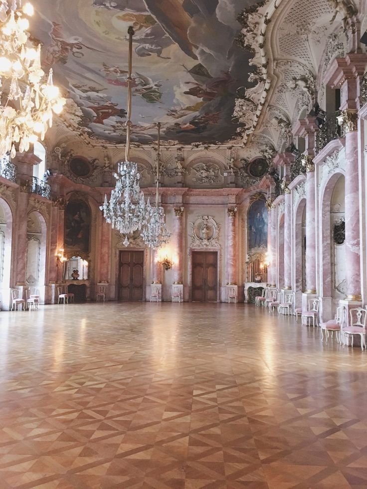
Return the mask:
{"type": "Polygon", "coordinates": [[[343,111],[343,129],[346,132],[346,299],[361,301],[361,256],[360,256],[360,205],[358,177],[358,132],[357,113],[343,111]]]}

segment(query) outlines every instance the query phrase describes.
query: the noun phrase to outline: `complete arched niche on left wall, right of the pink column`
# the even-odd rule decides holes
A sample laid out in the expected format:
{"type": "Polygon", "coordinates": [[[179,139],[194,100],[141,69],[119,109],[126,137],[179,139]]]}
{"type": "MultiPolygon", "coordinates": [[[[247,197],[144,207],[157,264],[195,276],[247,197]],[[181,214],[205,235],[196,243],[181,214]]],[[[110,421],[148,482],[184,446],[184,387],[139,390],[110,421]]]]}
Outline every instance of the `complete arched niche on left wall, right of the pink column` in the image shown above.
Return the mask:
{"type": "Polygon", "coordinates": [[[27,216],[27,251],[25,282],[30,287],[43,287],[46,272],[47,225],[37,211],[27,216]]]}

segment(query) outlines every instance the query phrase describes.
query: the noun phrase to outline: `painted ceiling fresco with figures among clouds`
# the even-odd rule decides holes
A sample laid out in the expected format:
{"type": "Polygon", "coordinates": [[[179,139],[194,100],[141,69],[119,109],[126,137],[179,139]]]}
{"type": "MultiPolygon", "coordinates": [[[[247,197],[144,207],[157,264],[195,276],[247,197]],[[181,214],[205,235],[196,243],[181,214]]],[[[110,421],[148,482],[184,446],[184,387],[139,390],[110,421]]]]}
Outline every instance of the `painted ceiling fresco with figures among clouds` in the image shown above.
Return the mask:
{"type": "Polygon", "coordinates": [[[236,90],[248,53],[234,41],[237,13],[256,0],[35,0],[31,34],[82,111],[89,137],[125,141],[127,29],[133,46],[133,140],[182,144],[236,136],[236,90]]]}

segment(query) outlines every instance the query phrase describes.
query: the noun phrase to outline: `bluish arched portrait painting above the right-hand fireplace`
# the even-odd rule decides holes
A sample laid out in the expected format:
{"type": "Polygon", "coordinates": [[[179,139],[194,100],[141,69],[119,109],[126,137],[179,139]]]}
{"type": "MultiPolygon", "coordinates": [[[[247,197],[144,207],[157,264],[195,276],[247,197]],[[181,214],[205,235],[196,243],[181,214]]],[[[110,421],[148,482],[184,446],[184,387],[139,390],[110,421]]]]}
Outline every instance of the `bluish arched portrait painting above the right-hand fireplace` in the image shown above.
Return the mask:
{"type": "Polygon", "coordinates": [[[248,253],[268,246],[268,211],[265,200],[255,200],[248,210],[248,253]]]}

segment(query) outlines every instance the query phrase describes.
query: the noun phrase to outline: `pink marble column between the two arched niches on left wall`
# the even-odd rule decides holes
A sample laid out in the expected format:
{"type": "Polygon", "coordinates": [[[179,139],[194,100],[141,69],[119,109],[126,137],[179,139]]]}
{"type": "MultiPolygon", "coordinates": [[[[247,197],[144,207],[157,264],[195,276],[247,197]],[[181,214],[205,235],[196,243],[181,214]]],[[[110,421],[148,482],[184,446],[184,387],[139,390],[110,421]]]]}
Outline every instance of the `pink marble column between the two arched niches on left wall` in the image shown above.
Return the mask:
{"type": "MultiPolygon", "coordinates": [[[[24,187],[24,190],[26,188],[24,187]]],[[[18,201],[16,204],[16,248],[15,248],[15,285],[25,285],[26,274],[26,259],[27,259],[27,214],[28,214],[28,198],[27,191],[23,191],[20,187],[18,201]]]]}

